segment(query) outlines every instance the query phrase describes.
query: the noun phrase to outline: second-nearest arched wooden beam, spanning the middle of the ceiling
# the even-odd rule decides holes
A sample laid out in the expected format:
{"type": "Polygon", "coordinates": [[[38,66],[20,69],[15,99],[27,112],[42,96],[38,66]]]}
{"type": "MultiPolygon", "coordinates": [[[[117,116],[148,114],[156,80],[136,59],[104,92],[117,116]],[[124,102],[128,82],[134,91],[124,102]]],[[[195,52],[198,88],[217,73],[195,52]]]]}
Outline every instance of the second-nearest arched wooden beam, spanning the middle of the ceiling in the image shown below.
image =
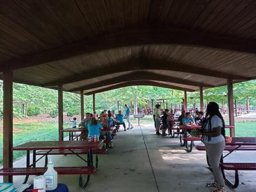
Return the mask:
{"type": "Polygon", "coordinates": [[[79,72],[79,74],[74,74],[63,79],[57,79],[56,81],[51,81],[44,84],[44,86],[56,86],[58,84],[68,84],[77,81],[84,81],[92,78],[97,78],[100,76],[107,76],[109,74],[115,74],[118,72],[132,72],[134,70],[166,70],[175,72],[186,72],[189,74],[197,74],[209,77],[218,77],[223,79],[243,79],[247,80],[248,77],[236,76],[234,74],[228,74],[226,72],[209,70],[202,67],[191,67],[191,65],[185,63],[175,63],[165,60],[154,60],[154,59],[137,59],[131,60],[124,63],[118,63],[111,67],[102,67],[90,71],[79,72]],[[120,67],[122,66],[122,67],[120,67]],[[84,76],[86,73],[86,76],[84,76]]]}

